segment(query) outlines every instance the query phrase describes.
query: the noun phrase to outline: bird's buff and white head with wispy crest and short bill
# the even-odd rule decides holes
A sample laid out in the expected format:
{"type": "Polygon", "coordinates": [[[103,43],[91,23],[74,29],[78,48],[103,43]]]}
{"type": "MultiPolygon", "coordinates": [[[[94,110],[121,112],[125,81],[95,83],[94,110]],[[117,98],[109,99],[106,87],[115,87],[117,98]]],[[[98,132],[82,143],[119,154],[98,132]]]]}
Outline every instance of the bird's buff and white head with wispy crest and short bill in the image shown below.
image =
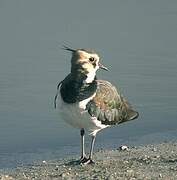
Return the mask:
{"type": "Polygon", "coordinates": [[[83,73],[87,76],[95,77],[96,71],[100,69],[108,70],[100,63],[99,55],[90,49],[71,49],[64,46],[65,50],[72,52],[71,73],[83,73]]]}

